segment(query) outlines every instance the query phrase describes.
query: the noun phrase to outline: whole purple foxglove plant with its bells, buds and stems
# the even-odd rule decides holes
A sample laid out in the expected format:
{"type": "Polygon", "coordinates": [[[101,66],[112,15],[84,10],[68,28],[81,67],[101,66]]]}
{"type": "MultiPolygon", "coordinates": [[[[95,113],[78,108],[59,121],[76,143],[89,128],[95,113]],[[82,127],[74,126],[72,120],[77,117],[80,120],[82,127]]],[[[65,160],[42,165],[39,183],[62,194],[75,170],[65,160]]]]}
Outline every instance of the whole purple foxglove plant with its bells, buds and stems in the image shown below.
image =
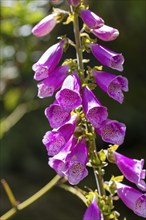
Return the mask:
{"type": "MultiPolygon", "coordinates": [[[[124,56],[96,43],[90,37],[90,34],[94,34],[102,41],[113,41],[118,37],[119,31],[105,25],[104,20],[90,11],[84,1],[68,0],[67,3],[68,12],[55,10],[32,29],[34,35],[43,37],[67,17],[64,24],[73,23],[75,36],[75,42],[67,36],[59,37],[59,41],[49,47],[32,67],[34,79],[39,81],[38,97],[47,98],[56,92],[54,102],[45,109],[45,116],[52,130],[47,131],[42,140],[49,157],[48,165],[57,173],[47,185],[47,190],[67,181],[72,186],[77,185],[87,177],[87,167],[92,167],[97,188],[90,191],[74,188],[76,192],[80,192],[77,195],[87,205],[84,220],[119,219],[120,213],[114,210],[113,204],[116,194],[136,215],[146,218],[144,159],[131,159],[117,152],[124,143],[126,125],[109,118],[108,108],[103,106],[94,91],[99,86],[109,97],[121,104],[124,101],[123,91],[128,92],[126,77],[113,74],[112,70],[104,71],[106,67],[122,72],[124,56]],[[79,18],[83,22],[81,30],[79,18]],[[63,52],[69,46],[75,48],[76,58],[68,57],[59,64],[63,52]],[[99,62],[98,66],[85,68],[84,64],[89,62],[83,59],[85,52],[93,54],[99,62]],[[96,137],[108,143],[109,147],[98,151],[96,137]],[[116,164],[123,176],[113,176],[105,181],[104,172],[108,163],[116,164]],[[121,183],[124,177],[139,189],[121,183]]],[[[66,188],[69,190],[69,185],[66,188]]],[[[13,195],[10,198],[15,203],[13,195]]],[[[30,198],[27,205],[38,198],[36,195],[33,199],[30,198]]],[[[19,210],[25,205],[15,206],[19,210]]],[[[2,219],[8,219],[7,216],[2,216],[2,219]]]]}

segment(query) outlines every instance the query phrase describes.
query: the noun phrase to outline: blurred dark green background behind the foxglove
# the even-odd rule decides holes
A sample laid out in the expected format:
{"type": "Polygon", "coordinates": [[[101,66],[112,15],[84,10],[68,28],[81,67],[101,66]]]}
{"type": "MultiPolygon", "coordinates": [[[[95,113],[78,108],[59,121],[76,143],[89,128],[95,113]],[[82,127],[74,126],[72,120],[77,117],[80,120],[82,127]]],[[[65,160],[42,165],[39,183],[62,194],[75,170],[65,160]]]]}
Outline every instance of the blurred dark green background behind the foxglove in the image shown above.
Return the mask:
{"type": "MultiPolygon", "coordinates": [[[[90,9],[100,15],[105,23],[120,31],[113,42],[101,42],[113,51],[122,52],[125,57],[123,74],[129,79],[129,93],[122,105],[110,99],[97,88],[96,95],[108,107],[110,118],[127,125],[127,134],[119,152],[131,158],[146,158],[146,1],[145,0],[92,0],[90,9]]],[[[37,98],[36,82],[33,80],[32,64],[52,44],[57,36],[68,33],[73,39],[72,24],[58,24],[52,33],[44,38],[31,35],[31,28],[40,19],[51,13],[55,5],[48,1],[2,0],[1,1],[1,178],[8,181],[16,198],[24,201],[44,186],[55,172],[47,165],[47,154],[42,136],[50,129],[44,116],[44,108],[54,100],[37,98]]],[[[67,9],[65,1],[55,7],[67,9]]],[[[92,35],[93,37],[93,35],[92,35]]],[[[63,56],[75,58],[69,49],[63,56]]],[[[99,65],[91,54],[90,65],[99,65]]],[[[117,74],[118,71],[110,70],[117,74]]],[[[98,148],[106,148],[98,137],[98,148]],[[99,147],[100,146],[100,147],[99,147]]],[[[92,170],[80,186],[95,189],[92,170]]],[[[111,174],[121,175],[114,165],[106,168],[105,179],[111,174]]],[[[125,180],[126,184],[130,184],[125,180]]],[[[135,187],[134,185],[132,185],[135,187]]],[[[142,218],[133,214],[121,201],[116,204],[127,220],[142,218]]],[[[3,188],[0,190],[0,213],[11,206],[3,188]]],[[[85,205],[75,196],[54,188],[33,205],[21,211],[14,220],[81,220],[85,205]]]]}

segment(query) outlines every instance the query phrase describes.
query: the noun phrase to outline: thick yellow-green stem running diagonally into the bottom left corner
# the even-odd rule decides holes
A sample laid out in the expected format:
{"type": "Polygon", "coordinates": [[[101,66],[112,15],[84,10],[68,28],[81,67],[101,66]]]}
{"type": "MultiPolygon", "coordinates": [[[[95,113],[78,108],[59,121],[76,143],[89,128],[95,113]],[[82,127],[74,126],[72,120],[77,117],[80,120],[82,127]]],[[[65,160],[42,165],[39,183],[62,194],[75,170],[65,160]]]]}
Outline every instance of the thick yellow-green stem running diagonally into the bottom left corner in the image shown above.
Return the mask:
{"type": "Polygon", "coordinates": [[[42,189],[40,189],[37,193],[35,193],[33,196],[26,199],[24,202],[19,203],[16,207],[10,209],[8,212],[6,212],[4,215],[0,217],[1,220],[7,220],[10,217],[12,217],[14,214],[16,214],[17,211],[20,211],[22,209],[25,209],[35,201],[37,201],[39,198],[41,198],[44,194],[46,194],[50,189],[52,189],[61,179],[60,176],[56,175],[48,184],[46,184],[42,189]]]}

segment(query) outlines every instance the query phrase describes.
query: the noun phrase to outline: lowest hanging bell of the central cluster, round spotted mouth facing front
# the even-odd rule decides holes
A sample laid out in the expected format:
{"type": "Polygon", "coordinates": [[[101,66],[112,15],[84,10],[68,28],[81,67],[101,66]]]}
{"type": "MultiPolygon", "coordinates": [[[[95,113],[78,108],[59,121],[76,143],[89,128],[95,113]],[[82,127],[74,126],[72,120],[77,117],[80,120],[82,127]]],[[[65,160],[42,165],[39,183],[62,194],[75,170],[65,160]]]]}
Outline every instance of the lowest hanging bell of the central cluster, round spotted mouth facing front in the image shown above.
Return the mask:
{"type": "Polygon", "coordinates": [[[66,157],[66,170],[64,172],[71,185],[77,185],[88,175],[86,163],[88,150],[86,142],[81,139],[66,157]]]}

